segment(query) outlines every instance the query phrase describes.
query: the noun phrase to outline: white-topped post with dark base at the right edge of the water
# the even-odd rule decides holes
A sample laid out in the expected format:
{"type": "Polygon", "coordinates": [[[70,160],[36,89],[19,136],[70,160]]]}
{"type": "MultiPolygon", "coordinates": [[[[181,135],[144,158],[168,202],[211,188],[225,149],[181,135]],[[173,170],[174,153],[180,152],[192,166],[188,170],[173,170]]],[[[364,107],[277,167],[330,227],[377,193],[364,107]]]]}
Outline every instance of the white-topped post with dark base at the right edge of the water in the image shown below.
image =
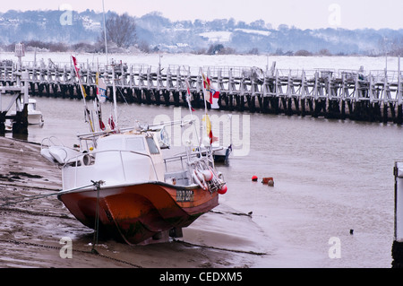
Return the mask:
{"type": "Polygon", "coordinates": [[[403,268],[403,162],[395,162],[395,233],[392,245],[392,267],[403,268]]]}

